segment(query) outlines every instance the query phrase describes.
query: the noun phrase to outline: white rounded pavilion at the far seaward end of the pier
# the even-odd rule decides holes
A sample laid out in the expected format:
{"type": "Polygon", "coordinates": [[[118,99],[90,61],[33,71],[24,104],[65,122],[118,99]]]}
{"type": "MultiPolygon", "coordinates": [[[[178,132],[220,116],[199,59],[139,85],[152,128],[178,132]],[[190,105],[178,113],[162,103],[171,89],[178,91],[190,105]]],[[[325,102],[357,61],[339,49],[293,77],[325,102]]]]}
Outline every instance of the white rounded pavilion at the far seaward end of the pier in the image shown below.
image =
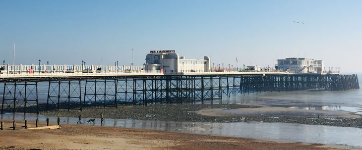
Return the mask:
{"type": "Polygon", "coordinates": [[[294,73],[322,73],[324,72],[323,60],[311,58],[285,58],[278,59],[277,69],[294,73]]]}

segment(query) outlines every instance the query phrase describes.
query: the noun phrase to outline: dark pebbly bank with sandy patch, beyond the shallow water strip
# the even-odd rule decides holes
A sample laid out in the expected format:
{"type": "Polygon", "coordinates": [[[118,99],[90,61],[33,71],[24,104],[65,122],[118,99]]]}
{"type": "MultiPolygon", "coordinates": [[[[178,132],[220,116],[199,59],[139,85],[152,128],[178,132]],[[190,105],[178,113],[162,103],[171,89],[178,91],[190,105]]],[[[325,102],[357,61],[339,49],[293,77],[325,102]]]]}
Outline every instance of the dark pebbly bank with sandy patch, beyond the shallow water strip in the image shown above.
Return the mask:
{"type": "Polygon", "coordinates": [[[280,122],[362,128],[360,115],[329,110],[283,109],[250,104],[152,104],[115,107],[85,107],[79,110],[48,110],[55,117],[186,121],[186,122],[280,122]],[[260,110],[263,110],[262,112],[260,110]]]}

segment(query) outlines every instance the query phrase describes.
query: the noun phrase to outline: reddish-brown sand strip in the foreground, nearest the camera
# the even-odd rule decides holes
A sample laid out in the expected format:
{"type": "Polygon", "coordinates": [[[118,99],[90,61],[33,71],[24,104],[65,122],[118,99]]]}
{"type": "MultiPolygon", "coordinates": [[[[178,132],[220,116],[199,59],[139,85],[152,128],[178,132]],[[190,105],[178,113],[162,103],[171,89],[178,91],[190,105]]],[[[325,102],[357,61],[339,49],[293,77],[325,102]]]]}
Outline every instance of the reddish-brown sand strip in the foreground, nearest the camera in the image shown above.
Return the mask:
{"type": "MultiPolygon", "coordinates": [[[[321,144],[277,143],[87,125],[61,125],[60,129],[54,130],[11,130],[11,121],[4,122],[5,130],[0,131],[0,149],[6,150],[347,150],[321,144]]],[[[35,126],[34,122],[29,122],[29,125],[35,126]]]]}

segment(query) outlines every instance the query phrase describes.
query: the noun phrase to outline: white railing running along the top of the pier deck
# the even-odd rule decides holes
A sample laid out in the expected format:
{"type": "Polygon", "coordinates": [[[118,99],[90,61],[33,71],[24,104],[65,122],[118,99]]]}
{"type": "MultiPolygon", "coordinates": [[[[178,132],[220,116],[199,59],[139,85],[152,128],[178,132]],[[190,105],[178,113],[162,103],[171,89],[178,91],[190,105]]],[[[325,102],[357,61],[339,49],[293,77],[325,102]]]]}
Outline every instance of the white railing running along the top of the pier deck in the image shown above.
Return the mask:
{"type": "MultiPolygon", "coordinates": [[[[145,70],[143,66],[112,66],[112,65],[0,65],[1,77],[20,76],[99,76],[99,75],[168,75],[168,74],[227,74],[227,73],[290,73],[283,69],[263,68],[261,70],[248,70],[247,68],[221,68],[210,70],[179,70],[167,72],[166,70],[145,70]]],[[[332,73],[332,72],[325,72],[332,73]]]]}

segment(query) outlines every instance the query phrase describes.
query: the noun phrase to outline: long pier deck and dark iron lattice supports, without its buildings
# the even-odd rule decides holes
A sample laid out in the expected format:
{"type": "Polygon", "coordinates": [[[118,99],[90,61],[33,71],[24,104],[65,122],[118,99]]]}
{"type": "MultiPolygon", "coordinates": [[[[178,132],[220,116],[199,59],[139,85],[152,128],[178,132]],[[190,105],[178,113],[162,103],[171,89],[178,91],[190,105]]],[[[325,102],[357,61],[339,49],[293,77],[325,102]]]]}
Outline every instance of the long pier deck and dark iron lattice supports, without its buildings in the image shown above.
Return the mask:
{"type": "Polygon", "coordinates": [[[49,109],[117,107],[121,104],[221,103],[223,97],[260,92],[359,89],[357,75],[339,72],[291,73],[277,69],[211,67],[163,72],[143,66],[0,65],[4,84],[1,113],[49,109]],[[39,103],[38,83],[48,83],[47,103],[39,103]],[[84,88],[81,85],[84,84],[84,88]]]}

